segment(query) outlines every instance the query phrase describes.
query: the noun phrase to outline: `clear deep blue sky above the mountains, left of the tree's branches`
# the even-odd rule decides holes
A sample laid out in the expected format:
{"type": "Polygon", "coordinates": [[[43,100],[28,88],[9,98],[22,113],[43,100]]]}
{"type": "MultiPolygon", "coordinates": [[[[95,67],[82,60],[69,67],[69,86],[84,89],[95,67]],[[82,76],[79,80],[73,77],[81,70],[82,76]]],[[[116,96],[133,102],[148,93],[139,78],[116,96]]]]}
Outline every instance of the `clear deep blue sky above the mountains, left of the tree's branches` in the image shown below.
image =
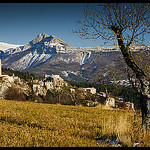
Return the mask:
{"type": "MultiPolygon", "coordinates": [[[[39,33],[46,33],[70,46],[101,46],[104,41],[83,40],[71,33],[85,6],[86,3],[0,3],[0,42],[26,44],[39,33]]],[[[150,45],[149,41],[147,36],[145,43],[150,45]]]]}

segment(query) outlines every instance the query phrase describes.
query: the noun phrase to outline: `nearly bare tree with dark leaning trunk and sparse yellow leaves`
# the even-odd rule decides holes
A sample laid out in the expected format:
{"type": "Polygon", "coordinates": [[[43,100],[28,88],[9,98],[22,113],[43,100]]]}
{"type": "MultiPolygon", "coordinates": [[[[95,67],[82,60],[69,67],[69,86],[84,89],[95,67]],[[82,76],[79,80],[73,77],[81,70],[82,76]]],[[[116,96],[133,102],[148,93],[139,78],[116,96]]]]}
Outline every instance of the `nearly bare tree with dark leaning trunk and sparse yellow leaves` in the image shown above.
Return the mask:
{"type": "Polygon", "coordinates": [[[133,71],[139,86],[134,86],[141,95],[142,124],[144,131],[150,129],[150,80],[143,68],[133,59],[130,48],[141,45],[144,35],[149,34],[149,3],[106,3],[84,10],[81,27],[74,30],[88,39],[117,40],[117,45],[127,66],[133,71]]]}

